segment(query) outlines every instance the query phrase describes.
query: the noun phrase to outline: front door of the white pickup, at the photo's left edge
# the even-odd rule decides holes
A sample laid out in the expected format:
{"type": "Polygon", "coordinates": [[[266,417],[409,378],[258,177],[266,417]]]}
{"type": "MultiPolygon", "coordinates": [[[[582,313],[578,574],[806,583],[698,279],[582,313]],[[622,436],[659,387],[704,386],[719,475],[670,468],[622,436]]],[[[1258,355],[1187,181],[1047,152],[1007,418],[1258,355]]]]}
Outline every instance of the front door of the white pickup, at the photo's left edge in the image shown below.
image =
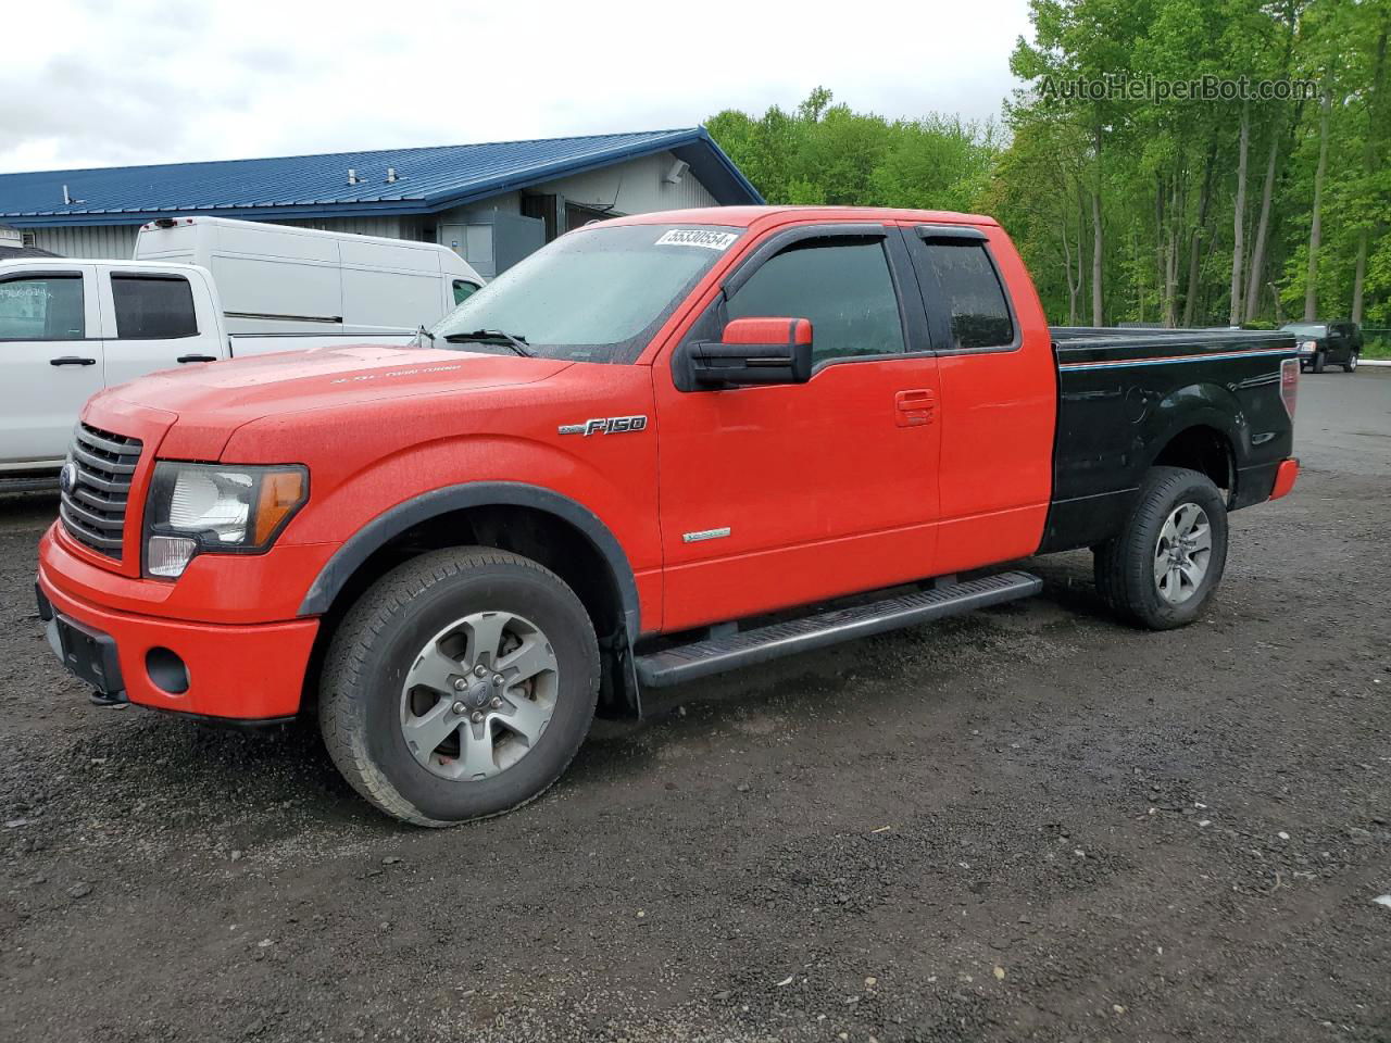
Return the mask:
{"type": "Polygon", "coordinates": [[[102,325],[89,264],[0,275],[0,464],[61,460],[102,389],[102,325]]]}

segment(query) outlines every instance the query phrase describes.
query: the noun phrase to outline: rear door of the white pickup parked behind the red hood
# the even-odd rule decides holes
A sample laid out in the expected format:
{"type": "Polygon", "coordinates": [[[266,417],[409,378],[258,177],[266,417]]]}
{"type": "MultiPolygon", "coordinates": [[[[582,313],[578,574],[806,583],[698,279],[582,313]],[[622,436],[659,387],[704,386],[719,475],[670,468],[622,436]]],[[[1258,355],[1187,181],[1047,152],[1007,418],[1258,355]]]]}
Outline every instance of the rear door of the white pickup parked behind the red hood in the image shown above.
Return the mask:
{"type": "Polygon", "coordinates": [[[121,267],[104,270],[100,284],[107,387],[225,353],[200,274],[121,267]]]}

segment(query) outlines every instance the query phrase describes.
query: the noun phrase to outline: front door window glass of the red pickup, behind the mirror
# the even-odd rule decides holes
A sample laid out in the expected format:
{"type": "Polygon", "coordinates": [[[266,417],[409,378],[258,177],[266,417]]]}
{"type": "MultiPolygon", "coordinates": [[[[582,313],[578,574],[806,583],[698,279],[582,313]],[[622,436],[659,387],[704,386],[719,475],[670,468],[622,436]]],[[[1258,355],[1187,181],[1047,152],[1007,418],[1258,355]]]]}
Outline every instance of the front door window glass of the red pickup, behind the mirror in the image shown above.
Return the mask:
{"type": "Polygon", "coordinates": [[[729,318],[810,318],[812,362],[904,350],[899,298],[878,238],[805,239],[739,288],[729,318]]]}

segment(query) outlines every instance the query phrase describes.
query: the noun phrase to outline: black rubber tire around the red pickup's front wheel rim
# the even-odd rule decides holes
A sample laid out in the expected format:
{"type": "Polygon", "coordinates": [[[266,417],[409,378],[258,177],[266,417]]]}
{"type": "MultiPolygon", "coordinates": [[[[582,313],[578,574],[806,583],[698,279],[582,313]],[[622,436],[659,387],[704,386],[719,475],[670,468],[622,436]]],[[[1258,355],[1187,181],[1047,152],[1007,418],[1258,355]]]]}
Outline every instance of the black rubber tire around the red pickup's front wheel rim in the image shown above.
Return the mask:
{"type": "Polygon", "coordinates": [[[559,779],[594,719],[598,687],[598,641],[574,591],[529,558],[452,548],[396,567],[353,605],[324,661],[319,722],[338,770],[367,801],[405,822],[452,826],[517,808],[559,779]],[[556,662],[555,705],[540,738],[498,775],[444,779],[406,745],[402,687],[419,649],[477,612],[534,620],[556,662]]]}

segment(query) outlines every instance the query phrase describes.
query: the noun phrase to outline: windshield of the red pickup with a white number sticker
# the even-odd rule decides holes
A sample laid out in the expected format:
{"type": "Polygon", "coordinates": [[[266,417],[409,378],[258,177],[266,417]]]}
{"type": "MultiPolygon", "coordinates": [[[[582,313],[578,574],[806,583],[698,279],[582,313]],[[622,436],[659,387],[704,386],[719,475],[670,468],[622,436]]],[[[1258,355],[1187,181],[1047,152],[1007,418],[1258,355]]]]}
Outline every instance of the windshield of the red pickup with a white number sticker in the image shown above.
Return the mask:
{"type": "Polygon", "coordinates": [[[508,268],[430,332],[437,348],[453,338],[465,350],[508,350],[508,341],[520,341],[548,359],[630,363],[743,231],[665,224],[574,231],[508,268]]]}

